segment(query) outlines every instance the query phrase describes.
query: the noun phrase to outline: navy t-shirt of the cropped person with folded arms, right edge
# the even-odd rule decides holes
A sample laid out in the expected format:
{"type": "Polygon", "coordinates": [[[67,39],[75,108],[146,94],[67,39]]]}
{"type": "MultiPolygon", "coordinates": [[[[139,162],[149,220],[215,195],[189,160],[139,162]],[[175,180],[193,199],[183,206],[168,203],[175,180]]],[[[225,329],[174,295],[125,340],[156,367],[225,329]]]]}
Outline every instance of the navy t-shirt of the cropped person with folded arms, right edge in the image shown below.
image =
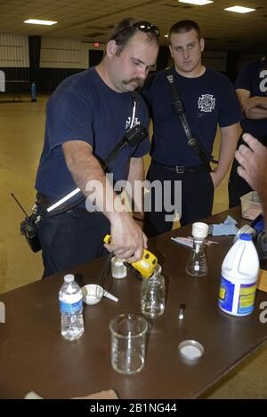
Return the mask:
{"type": "MultiPolygon", "coordinates": [[[[236,89],[247,90],[251,97],[267,96],[267,68],[263,68],[260,62],[246,64],[236,80],[236,89]]],[[[267,137],[267,118],[245,119],[241,123],[243,132],[253,134],[258,139],[267,137]]]]}

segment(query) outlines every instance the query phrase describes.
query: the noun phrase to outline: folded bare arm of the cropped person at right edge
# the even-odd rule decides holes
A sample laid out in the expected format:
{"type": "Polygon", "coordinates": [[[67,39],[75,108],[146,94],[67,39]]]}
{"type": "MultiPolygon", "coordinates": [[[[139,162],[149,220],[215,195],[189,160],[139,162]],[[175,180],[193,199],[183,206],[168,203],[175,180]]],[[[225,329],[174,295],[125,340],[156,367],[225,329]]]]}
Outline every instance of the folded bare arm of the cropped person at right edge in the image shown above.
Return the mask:
{"type": "Polygon", "coordinates": [[[267,97],[251,97],[248,90],[236,90],[241,107],[247,119],[259,120],[267,118],[267,97]]]}

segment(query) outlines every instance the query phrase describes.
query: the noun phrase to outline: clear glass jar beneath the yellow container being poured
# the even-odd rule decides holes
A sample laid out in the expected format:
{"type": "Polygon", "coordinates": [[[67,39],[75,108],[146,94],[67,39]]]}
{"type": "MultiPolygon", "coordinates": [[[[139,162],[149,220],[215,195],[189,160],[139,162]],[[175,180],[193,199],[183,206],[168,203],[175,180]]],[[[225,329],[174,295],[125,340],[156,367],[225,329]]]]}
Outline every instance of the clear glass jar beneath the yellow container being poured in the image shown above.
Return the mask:
{"type": "Polygon", "coordinates": [[[166,287],[165,278],[161,275],[161,266],[157,265],[150,278],[142,279],[141,309],[147,317],[156,318],[165,311],[166,287]]]}

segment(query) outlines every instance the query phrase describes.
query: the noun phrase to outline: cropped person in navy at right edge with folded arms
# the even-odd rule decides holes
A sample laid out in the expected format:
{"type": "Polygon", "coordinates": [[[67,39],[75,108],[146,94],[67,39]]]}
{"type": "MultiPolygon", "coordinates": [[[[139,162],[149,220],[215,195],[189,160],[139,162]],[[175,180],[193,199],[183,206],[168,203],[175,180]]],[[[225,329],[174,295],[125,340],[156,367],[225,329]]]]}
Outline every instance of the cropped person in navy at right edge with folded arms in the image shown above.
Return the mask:
{"type": "MultiPolygon", "coordinates": [[[[244,111],[245,119],[241,122],[242,134],[247,132],[267,146],[267,58],[248,62],[239,72],[236,91],[244,111]]],[[[244,143],[242,135],[239,145],[244,143]]],[[[229,205],[240,204],[240,196],[252,190],[247,181],[237,172],[239,164],[234,161],[229,180],[229,205]]]]}

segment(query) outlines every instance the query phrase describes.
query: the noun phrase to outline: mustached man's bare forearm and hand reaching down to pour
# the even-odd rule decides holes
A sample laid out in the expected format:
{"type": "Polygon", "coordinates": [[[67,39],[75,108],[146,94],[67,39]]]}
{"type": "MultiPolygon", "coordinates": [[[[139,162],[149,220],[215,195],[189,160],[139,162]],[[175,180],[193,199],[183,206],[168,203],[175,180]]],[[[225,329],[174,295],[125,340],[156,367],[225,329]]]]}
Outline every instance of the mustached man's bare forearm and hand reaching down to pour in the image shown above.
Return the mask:
{"type": "Polygon", "coordinates": [[[105,245],[109,252],[114,252],[115,255],[131,262],[139,261],[142,258],[143,247],[147,245],[147,239],[126,212],[125,206],[118,204],[112,185],[106,180],[101,164],[93,156],[92,147],[83,140],[70,140],[63,143],[62,149],[69,172],[85,196],[90,198],[91,194],[86,190],[88,181],[101,182],[100,188],[93,189],[93,197],[96,197],[101,212],[110,221],[112,242],[105,245]],[[113,207],[116,207],[116,210],[112,210],[113,207]]]}

